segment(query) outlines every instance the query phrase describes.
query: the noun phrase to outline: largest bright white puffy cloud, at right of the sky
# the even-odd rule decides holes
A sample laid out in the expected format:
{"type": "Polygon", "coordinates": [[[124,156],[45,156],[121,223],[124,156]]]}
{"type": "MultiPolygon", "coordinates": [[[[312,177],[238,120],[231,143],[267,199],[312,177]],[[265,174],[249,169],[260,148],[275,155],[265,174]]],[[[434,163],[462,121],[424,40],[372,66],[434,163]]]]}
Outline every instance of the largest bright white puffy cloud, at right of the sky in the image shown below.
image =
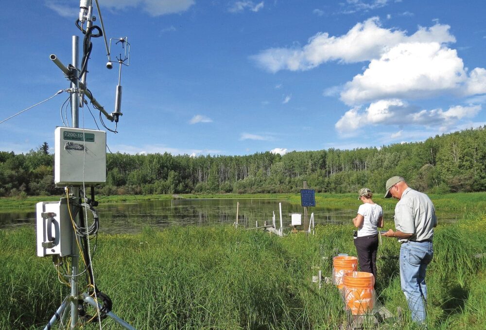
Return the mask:
{"type": "Polygon", "coordinates": [[[400,43],[371,60],[341,93],[348,105],[390,97],[419,98],[454,90],[467,74],[457,52],[437,42],[400,43]]]}

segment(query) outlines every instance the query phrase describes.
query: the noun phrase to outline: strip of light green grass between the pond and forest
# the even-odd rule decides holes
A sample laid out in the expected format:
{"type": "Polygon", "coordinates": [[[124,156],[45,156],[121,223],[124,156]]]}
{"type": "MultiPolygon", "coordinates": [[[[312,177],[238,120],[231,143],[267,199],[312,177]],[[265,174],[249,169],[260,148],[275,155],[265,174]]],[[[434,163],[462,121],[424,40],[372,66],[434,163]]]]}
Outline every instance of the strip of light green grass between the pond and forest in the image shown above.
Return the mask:
{"type": "MultiPolygon", "coordinates": [[[[315,202],[317,206],[330,207],[357,207],[361,202],[357,199],[358,194],[328,194],[317,193],[315,202]]],[[[449,210],[485,210],[486,209],[486,192],[474,193],[454,193],[444,195],[429,195],[437,209],[449,210]]],[[[34,209],[36,202],[58,201],[61,196],[35,196],[26,198],[1,198],[0,212],[8,211],[14,208],[34,209]]],[[[289,202],[300,204],[300,194],[214,194],[214,195],[113,195],[97,196],[101,203],[124,203],[124,202],[143,202],[143,201],[167,201],[173,199],[285,199],[289,202]]],[[[396,201],[393,199],[384,199],[382,194],[375,194],[375,202],[383,206],[384,209],[393,209],[396,201]]]]}

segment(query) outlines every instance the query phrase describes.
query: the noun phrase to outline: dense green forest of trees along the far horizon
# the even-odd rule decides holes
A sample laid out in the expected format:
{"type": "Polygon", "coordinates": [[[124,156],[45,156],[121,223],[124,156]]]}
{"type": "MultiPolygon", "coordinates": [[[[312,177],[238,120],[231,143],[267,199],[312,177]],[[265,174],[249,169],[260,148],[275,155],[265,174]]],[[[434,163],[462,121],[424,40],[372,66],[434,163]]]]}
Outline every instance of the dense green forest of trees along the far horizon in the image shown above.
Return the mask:
{"type": "MultiPolygon", "coordinates": [[[[26,154],[0,151],[0,196],[56,195],[54,157],[44,143],[26,154]]],[[[393,175],[430,193],[486,191],[486,126],[380,148],[270,152],[246,156],[107,154],[103,195],[384,191],[393,175]]]]}

